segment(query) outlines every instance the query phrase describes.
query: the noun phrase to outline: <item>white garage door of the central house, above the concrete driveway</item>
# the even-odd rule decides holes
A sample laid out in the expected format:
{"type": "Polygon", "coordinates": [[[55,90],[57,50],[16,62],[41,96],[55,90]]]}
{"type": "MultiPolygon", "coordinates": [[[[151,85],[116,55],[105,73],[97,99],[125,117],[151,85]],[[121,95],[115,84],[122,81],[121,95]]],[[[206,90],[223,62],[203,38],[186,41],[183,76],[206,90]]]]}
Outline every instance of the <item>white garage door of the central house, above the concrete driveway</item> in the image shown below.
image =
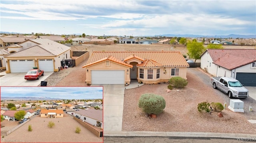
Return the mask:
{"type": "Polygon", "coordinates": [[[91,71],[92,84],[125,84],[124,70],[91,71]]]}

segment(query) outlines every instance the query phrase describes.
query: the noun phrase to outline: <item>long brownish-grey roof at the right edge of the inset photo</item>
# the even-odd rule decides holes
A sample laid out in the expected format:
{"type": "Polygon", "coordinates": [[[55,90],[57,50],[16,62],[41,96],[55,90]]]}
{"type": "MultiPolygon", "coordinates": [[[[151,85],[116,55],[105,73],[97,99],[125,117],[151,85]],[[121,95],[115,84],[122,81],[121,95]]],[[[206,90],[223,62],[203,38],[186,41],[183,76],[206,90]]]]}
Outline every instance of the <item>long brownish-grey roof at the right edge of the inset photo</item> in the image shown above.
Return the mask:
{"type": "Polygon", "coordinates": [[[89,110],[78,110],[75,111],[77,114],[81,114],[83,116],[96,119],[98,121],[103,121],[103,111],[102,110],[96,110],[96,109],[89,109],[89,110]]]}

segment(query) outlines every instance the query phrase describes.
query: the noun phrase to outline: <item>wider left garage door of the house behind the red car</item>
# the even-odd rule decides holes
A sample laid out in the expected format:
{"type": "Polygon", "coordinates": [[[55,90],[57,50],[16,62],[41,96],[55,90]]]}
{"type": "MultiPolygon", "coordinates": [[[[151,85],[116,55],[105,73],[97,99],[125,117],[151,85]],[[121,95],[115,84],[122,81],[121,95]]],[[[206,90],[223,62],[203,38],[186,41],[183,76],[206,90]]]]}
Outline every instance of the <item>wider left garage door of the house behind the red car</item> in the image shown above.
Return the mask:
{"type": "Polygon", "coordinates": [[[9,60],[11,72],[28,72],[35,67],[34,60],[9,60]]]}

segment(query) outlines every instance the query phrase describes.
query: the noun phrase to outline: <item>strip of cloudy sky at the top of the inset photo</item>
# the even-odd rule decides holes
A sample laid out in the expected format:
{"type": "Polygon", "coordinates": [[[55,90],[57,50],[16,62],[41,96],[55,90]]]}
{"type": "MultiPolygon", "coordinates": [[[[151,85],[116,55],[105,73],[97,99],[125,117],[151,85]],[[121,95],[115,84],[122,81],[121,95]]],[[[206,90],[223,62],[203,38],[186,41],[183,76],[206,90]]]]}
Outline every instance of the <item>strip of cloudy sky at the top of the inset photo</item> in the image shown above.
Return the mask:
{"type": "Polygon", "coordinates": [[[0,91],[1,97],[103,98],[103,87],[1,87],[0,91]]]}

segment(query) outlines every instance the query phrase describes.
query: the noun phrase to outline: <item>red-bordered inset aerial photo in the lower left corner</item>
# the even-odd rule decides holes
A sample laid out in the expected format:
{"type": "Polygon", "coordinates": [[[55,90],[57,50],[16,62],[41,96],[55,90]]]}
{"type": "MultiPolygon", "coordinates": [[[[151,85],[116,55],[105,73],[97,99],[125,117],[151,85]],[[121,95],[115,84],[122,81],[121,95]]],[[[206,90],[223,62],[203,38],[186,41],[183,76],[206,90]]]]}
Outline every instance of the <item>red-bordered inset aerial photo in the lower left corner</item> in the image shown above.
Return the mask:
{"type": "Polygon", "coordinates": [[[0,87],[1,143],[103,143],[102,86],[0,87]]]}

